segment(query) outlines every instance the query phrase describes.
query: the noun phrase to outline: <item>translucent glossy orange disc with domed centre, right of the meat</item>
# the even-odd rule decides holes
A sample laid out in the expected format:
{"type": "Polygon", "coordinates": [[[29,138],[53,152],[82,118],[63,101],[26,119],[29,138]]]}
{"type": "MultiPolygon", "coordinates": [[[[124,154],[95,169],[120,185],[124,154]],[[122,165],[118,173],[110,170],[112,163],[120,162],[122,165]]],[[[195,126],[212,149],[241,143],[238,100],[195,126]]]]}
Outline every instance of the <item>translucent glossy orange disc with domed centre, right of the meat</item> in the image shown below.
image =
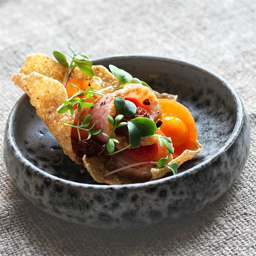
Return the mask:
{"type": "Polygon", "coordinates": [[[178,157],[184,150],[193,150],[197,140],[196,124],[189,110],[177,101],[159,99],[163,113],[160,129],[171,137],[174,147],[173,157],[178,157]]]}

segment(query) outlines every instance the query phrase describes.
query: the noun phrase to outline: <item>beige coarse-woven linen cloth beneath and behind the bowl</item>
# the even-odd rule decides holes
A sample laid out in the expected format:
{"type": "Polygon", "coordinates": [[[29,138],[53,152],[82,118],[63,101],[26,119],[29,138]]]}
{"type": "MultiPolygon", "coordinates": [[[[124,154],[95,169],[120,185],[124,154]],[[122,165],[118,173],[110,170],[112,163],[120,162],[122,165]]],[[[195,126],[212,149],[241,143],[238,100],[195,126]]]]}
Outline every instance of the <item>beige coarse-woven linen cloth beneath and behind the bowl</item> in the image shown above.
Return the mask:
{"type": "Polygon", "coordinates": [[[1,255],[255,255],[256,1],[1,1],[1,255]],[[251,152],[232,187],[176,223],[95,230],[38,210],[15,187],[3,161],[3,133],[22,91],[11,75],[29,53],[67,44],[90,59],[150,54],[184,59],[225,78],[251,121],[251,152]]]}

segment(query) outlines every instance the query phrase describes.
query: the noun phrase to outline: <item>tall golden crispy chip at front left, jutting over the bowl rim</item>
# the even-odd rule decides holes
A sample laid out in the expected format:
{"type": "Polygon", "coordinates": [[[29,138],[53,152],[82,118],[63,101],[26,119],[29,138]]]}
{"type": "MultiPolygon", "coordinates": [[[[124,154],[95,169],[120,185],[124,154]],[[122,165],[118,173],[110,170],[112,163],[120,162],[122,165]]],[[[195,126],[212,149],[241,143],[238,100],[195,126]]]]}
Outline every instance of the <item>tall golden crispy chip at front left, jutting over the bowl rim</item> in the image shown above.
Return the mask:
{"type": "Polygon", "coordinates": [[[37,72],[30,75],[14,74],[12,81],[17,84],[30,98],[30,103],[37,111],[37,115],[44,120],[56,140],[60,143],[64,153],[76,163],[81,163],[73,153],[71,145],[71,127],[64,125],[73,124],[74,116],[70,112],[57,113],[56,109],[63,99],[67,99],[67,91],[59,81],[43,76],[37,72]]]}

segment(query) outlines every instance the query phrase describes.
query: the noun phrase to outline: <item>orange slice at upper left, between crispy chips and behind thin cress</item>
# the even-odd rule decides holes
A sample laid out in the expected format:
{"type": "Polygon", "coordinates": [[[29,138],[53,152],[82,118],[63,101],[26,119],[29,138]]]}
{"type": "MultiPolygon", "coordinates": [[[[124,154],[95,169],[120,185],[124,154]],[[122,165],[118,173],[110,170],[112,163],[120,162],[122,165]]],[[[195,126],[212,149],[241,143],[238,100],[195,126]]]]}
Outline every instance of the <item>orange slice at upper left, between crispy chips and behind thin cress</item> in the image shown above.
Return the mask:
{"type": "MultiPolygon", "coordinates": [[[[66,90],[68,93],[68,98],[72,97],[74,94],[77,93],[78,89],[71,85],[71,83],[75,84],[75,86],[79,87],[81,90],[88,89],[89,86],[93,87],[94,90],[102,90],[103,87],[99,86],[98,84],[95,84],[94,82],[88,81],[86,78],[80,78],[80,79],[70,79],[68,80],[66,90]]],[[[79,98],[83,98],[84,95],[78,96],[79,98]]],[[[95,99],[100,97],[99,95],[93,95],[95,99]]],[[[86,102],[91,102],[92,99],[88,98],[86,99],[86,102]]],[[[76,106],[74,106],[74,109],[76,109],[76,106]]]]}

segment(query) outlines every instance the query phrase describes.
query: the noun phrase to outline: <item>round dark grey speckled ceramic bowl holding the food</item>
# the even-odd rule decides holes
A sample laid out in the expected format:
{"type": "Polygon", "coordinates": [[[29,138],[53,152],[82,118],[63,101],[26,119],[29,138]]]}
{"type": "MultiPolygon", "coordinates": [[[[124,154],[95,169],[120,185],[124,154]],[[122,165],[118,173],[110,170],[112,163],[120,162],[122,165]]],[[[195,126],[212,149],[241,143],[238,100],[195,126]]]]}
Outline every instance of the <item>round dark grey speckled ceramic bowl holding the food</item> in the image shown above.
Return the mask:
{"type": "Polygon", "coordinates": [[[224,79],[197,65],[161,57],[118,56],[94,64],[116,65],[161,93],[177,94],[195,118],[203,150],[175,176],[139,184],[97,184],[75,163],[56,165],[59,144],[23,95],[6,125],[4,160],[27,199],[66,221],[113,229],[173,221],[227,191],[245,165],[250,130],[240,98],[224,79]]]}

